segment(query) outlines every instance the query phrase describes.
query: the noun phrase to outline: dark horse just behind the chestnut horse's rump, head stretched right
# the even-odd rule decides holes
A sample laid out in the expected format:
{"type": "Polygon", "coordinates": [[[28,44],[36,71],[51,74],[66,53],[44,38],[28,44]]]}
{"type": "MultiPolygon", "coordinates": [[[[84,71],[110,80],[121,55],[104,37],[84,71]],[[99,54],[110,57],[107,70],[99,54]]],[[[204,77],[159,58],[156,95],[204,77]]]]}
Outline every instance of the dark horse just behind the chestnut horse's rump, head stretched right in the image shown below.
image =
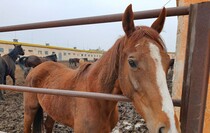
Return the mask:
{"type": "Polygon", "coordinates": [[[35,55],[23,56],[18,60],[18,64],[20,65],[21,69],[24,71],[24,77],[26,77],[31,68],[35,68],[36,66],[45,61],[57,62],[57,55],[52,54],[45,57],[38,57],[35,55]]]}

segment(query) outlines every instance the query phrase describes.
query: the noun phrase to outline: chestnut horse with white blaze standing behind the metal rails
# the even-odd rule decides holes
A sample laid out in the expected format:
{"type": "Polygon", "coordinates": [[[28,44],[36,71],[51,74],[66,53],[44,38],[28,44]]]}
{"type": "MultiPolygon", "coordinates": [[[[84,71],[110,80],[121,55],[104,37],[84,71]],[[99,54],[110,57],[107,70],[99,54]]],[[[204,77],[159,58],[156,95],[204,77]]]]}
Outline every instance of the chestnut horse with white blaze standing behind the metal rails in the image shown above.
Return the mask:
{"type": "MultiPolygon", "coordinates": [[[[173,103],[166,84],[169,56],[161,40],[166,11],[151,27],[134,26],[131,5],[123,15],[125,36],[98,61],[78,69],[45,62],[29,73],[27,86],[123,94],[146,120],[150,133],[179,133],[173,103]]],[[[24,132],[41,132],[42,110],[48,114],[47,132],[58,121],[76,133],[108,133],[118,121],[117,101],[24,93],[24,132]],[[37,131],[36,129],[39,129],[37,131]]]]}

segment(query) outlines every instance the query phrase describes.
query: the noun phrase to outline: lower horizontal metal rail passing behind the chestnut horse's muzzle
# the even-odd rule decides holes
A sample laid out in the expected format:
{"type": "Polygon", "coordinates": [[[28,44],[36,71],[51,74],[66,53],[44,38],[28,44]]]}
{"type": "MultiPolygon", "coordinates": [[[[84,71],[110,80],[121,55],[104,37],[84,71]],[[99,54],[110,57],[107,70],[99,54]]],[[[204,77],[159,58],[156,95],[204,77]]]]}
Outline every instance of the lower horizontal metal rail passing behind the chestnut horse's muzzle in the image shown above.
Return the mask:
{"type": "MultiPolygon", "coordinates": [[[[33,88],[26,86],[12,86],[12,85],[0,85],[0,90],[12,90],[19,92],[32,92],[32,93],[42,93],[51,95],[61,95],[61,96],[71,96],[71,97],[82,97],[82,98],[96,98],[102,100],[111,101],[123,101],[131,102],[130,99],[123,95],[113,95],[97,92],[82,92],[82,91],[71,91],[71,90],[57,90],[57,89],[47,89],[47,88],[33,88]]],[[[173,100],[174,106],[181,106],[181,100],[173,100]]]]}

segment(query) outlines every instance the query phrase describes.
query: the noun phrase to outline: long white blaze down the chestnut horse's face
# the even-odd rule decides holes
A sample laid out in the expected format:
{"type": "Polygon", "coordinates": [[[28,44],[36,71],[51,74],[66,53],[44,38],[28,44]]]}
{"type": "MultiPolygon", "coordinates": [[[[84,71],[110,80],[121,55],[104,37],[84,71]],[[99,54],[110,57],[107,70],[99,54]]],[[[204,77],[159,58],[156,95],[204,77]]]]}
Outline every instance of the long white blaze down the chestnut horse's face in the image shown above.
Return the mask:
{"type": "Polygon", "coordinates": [[[174,107],[168,91],[166,75],[163,70],[159,48],[156,45],[150,43],[149,49],[150,55],[155,62],[156,82],[160,91],[160,95],[162,97],[162,111],[166,113],[170,122],[170,129],[168,133],[178,133],[174,118],[174,107]]]}

